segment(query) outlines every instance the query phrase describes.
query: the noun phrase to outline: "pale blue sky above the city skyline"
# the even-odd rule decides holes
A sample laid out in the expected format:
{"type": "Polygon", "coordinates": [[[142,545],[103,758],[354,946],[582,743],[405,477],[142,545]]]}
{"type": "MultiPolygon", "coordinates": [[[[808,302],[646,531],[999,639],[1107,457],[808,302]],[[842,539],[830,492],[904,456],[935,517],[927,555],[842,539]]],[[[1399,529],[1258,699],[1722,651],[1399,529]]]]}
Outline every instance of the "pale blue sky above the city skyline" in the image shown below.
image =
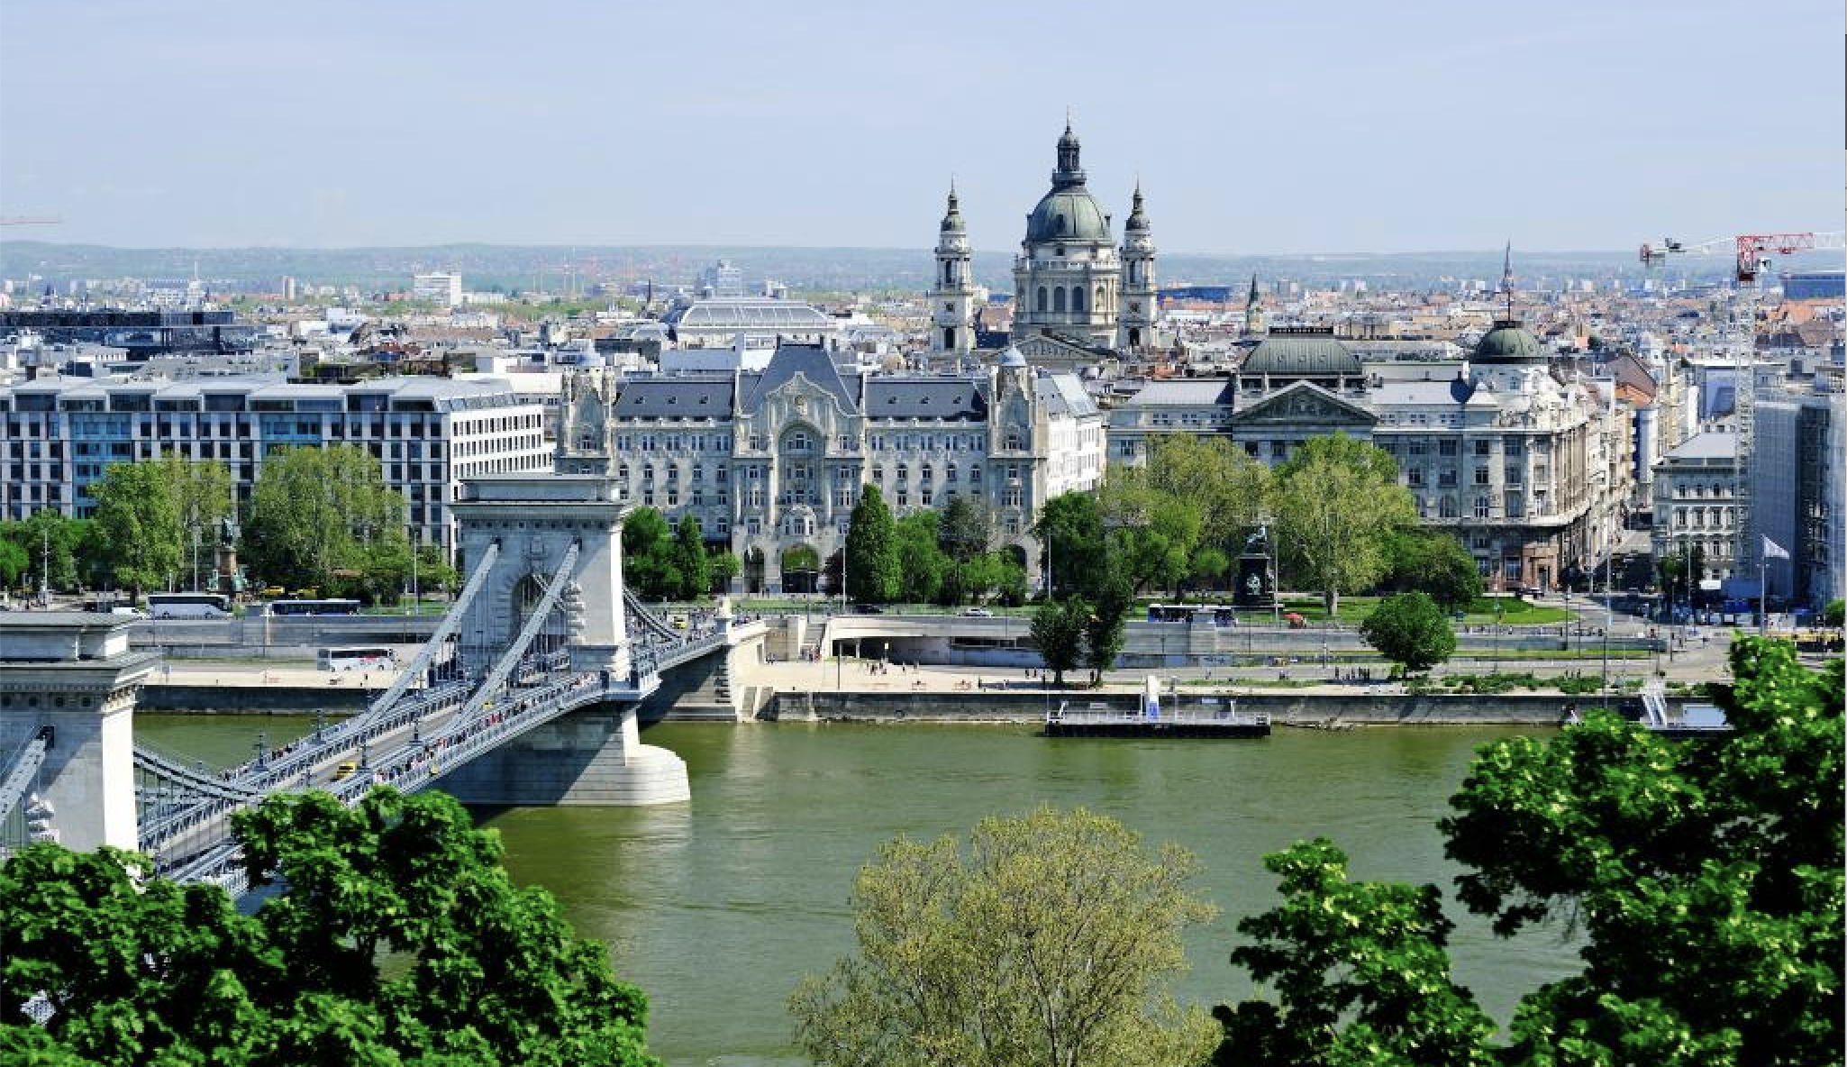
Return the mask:
{"type": "Polygon", "coordinates": [[[1840,0],[0,0],[0,236],[1167,251],[1841,227],[1840,0]]]}

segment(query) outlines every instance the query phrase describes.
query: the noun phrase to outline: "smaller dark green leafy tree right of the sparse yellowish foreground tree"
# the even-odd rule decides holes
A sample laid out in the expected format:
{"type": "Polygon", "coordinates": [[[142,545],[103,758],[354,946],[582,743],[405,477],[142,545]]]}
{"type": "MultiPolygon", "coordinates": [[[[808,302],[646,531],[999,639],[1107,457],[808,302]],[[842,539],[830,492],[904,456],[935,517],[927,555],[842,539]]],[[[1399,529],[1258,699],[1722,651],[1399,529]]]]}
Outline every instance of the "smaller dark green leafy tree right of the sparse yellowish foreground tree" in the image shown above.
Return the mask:
{"type": "Polygon", "coordinates": [[[1232,964],[1274,989],[1213,1010],[1217,1067],[1489,1067],[1494,1021],[1450,980],[1437,886],[1350,882],[1326,838],[1263,857],[1286,903],[1237,923],[1232,964]]]}

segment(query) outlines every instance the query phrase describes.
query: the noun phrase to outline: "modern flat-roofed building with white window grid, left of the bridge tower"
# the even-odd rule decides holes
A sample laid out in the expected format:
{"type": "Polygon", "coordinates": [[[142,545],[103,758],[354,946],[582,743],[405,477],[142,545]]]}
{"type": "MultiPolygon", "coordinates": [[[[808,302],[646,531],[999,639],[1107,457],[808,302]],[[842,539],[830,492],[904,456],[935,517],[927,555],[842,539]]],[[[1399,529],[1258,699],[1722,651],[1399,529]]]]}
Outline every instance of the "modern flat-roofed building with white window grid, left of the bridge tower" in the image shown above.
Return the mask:
{"type": "Polygon", "coordinates": [[[404,495],[410,534],[454,550],[449,502],[462,478],[545,471],[545,406],[489,378],[379,378],[353,386],[281,377],[133,380],[39,378],[0,390],[6,436],[0,517],[41,508],[85,517],[89,486],[113,463],[179,452],[231,469],[247,502],[277,449],[358,445],[404,495]]]}

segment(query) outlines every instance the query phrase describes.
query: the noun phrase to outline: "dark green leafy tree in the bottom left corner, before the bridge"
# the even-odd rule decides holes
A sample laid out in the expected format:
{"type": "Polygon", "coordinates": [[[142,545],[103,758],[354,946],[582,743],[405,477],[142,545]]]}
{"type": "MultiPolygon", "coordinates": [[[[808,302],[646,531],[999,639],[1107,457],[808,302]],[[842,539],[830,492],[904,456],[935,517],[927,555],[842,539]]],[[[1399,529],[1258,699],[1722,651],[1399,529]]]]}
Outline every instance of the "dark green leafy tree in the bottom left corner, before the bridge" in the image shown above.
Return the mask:
{"type": "Polygon", "coordinates": [[[447,796],[279,794],[235,823],[251,884],[281,886],[255,916],[118,849],[37,844],[0,868],[0,1013],[54,1008],[0,1026],[0,1060],[658,1063],[641,989],[447,796]]]}

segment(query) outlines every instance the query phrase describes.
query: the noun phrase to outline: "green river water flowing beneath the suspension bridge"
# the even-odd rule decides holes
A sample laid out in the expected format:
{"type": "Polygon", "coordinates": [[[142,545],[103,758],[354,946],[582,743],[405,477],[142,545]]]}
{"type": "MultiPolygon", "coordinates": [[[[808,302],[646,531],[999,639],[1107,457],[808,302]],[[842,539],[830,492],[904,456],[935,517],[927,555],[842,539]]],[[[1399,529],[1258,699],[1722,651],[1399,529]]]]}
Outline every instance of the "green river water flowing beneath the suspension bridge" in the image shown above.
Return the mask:
{"type": "MultiPolygon", "coordinates": [[[[305,733],[301,716],[137,714],[155,744],[211,762],[305,733]]],[[[1199,855],[1221,908],[1189,938],[1182,999],[1250,991],[1228,962],[1239,917],[1274,906],[1262,855],[1326,834],[1354,877],[1435,881],[1455,868],[1435,820],[1472,751],[1520,727],[1278,729],[1265,740],[1047,740],[1029,725],[658,725],[693,803],[499,809],[478,816],[521,882],[549,888],[576,930],[648,991],[648,1039],[674,1065],[802,1063],[783,999],[851,947],[853,875],[894,834],[962,834],[994,812],[1086,805],[1199,855]]],[[[1574,969],[1557,932],[1500,941],[1450,906],[1457,978],[1505,1023],[1515,1001],[1574,969]]]]}

